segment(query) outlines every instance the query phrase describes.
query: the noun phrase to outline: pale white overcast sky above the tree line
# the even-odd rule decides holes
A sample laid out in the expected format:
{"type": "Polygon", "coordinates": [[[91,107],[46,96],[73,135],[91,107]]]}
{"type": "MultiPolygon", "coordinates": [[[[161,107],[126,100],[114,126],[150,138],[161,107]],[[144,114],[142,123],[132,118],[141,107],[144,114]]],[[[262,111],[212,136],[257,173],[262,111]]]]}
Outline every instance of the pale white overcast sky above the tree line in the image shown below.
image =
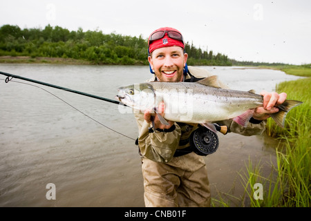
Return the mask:
{"type": "Polygon", "coordinates": [[[169,26],[190,44],[239,61],[311,63],[310,0],[1,0],[0,6],[0,26],[50,23],[146,39],[169,26]]]}

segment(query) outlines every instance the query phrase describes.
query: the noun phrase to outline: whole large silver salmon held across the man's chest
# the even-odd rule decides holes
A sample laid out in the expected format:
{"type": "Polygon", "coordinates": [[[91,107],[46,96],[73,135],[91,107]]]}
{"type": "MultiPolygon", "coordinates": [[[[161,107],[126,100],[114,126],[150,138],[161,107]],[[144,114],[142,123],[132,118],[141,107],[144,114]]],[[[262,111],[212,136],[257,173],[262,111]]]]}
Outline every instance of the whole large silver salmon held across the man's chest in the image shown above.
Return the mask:
{"type": "MultiPolygon", "coordinates": [[[[263,96],[253,90],[229,90],[220,88],[216,75],[191,82],[146,82],[118,88],[117,99],[135,110],[149,109],[158,114],[158,105],[164,102],[164,119],[173,122],[202,124],[215,131],[211,122],[233,119],[246,126],[254,108],[263,106],[263,96]]],[[[271,117],[283,127],[288,111],[302,102],[285,100],[271,117]]]]}

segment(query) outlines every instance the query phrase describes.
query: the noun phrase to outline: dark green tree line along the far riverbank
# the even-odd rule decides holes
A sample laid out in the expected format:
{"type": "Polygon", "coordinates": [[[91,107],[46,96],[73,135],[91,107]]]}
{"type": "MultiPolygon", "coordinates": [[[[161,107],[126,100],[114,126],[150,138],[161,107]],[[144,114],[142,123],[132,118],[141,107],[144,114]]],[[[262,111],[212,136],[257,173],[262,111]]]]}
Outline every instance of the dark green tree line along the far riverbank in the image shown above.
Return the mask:
{"type": "MultiPolygon", "coordinates": [[[[0,56],[63,57],[83,59],[93,64],[147,65],[147,39],[101,30],[70,31],[59,26],[24,28],[4,25],[0,28],[0,56]]],[[[232,66],[226,55],[185,45],[188,65],[232,66]]]]}

